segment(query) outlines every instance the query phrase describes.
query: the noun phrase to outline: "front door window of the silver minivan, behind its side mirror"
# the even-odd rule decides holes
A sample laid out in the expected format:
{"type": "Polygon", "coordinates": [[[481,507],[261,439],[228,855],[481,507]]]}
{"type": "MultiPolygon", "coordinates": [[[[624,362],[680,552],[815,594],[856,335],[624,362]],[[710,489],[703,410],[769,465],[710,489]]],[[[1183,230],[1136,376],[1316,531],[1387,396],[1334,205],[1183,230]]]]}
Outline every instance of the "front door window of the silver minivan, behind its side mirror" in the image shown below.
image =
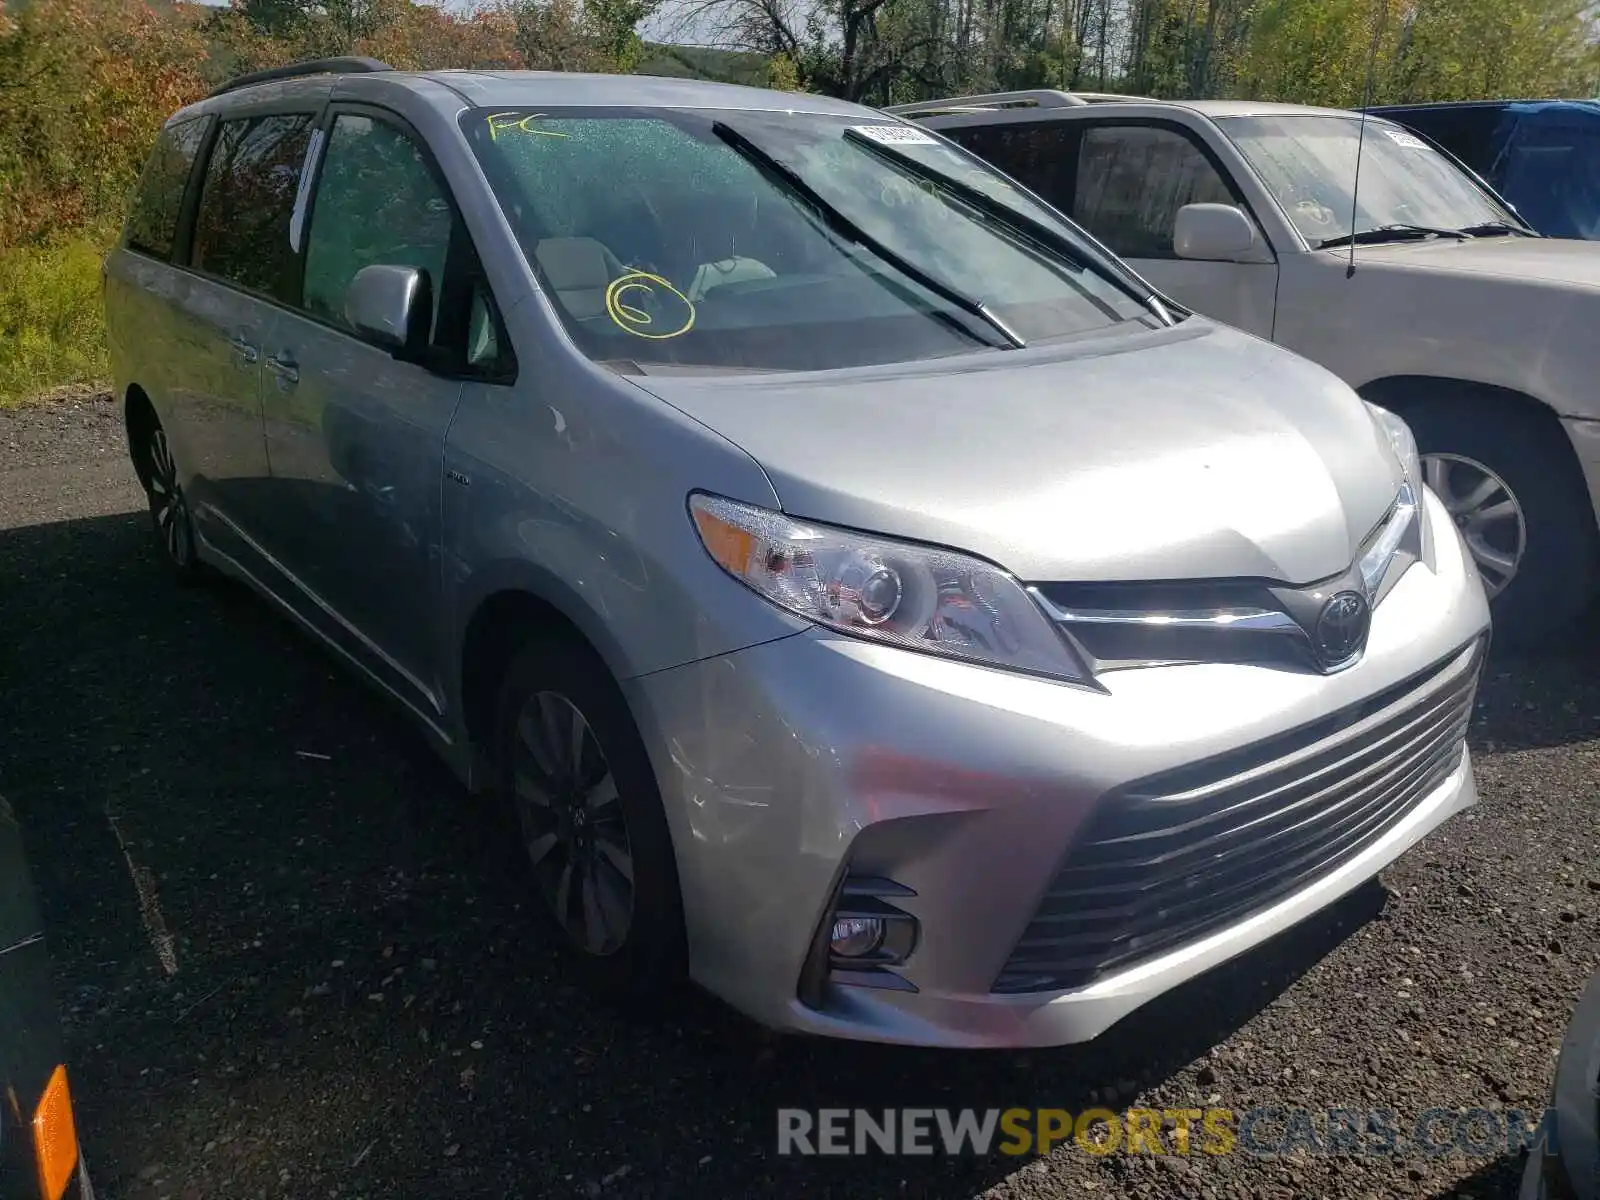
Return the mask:
{"type": "Polygon", "coordinates": [[[306,310],[344,325],[344,293],[362,267],[419,267],[438,312],[453,210],[405,133],[355,114],[333,123],[306,240],[306,310]]]}

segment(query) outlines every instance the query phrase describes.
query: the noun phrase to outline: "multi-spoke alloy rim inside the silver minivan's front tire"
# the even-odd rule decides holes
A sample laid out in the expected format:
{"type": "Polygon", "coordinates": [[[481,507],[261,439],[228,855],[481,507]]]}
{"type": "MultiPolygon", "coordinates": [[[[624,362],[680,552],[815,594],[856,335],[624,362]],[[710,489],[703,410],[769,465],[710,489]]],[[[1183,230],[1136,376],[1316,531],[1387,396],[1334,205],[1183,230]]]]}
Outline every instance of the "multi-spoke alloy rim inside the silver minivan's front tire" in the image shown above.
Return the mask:
{"type": "Polygon", "coordinates": [[[594,730],[555,691],[517,715],[512,792],[546,902],[573,944],[616,954],[634,918],[634,853],[616,776],[594,730]]]}

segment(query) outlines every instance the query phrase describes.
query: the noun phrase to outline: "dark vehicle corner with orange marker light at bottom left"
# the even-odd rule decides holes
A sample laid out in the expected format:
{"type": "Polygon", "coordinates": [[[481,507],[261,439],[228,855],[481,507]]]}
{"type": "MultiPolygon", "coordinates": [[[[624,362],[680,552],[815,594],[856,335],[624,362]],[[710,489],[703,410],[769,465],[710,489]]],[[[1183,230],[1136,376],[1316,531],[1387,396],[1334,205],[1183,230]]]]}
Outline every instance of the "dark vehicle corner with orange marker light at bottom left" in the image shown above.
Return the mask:
{"type": "Polygon", "coordinates": [[[0,797],[0,1200],[93,1200],[22,832],[0,797]]]}

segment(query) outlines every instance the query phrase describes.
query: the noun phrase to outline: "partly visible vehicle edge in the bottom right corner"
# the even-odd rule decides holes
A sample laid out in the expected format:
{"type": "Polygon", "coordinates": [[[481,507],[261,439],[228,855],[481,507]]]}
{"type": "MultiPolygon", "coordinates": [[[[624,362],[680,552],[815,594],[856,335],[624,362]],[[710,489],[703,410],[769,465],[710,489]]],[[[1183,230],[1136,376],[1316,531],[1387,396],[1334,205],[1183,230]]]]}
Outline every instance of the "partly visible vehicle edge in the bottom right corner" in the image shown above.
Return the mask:
{"type": "Polygon", "coordinates": [[[1555,1136],[1534,1149],[1520,1200],[1600,1197],[1600,974],[1578,1002],[1555,1064],[1555,1136]]]}

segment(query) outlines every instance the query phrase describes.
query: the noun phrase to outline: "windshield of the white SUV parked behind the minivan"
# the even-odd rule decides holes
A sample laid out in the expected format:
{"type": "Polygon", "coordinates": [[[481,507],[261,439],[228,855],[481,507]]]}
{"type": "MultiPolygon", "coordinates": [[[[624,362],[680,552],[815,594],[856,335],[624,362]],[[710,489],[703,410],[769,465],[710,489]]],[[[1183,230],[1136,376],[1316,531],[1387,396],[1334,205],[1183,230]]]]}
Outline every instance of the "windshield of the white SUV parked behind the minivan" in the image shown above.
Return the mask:
{"type": "Polygon", "coordinates": [[[1381,226],[1469,229],[1517,221],[1414,133],[1368,120],[1352,229],[1360,118],[1221,117],[1218,125],[1314,246],[1381,226]]]}

